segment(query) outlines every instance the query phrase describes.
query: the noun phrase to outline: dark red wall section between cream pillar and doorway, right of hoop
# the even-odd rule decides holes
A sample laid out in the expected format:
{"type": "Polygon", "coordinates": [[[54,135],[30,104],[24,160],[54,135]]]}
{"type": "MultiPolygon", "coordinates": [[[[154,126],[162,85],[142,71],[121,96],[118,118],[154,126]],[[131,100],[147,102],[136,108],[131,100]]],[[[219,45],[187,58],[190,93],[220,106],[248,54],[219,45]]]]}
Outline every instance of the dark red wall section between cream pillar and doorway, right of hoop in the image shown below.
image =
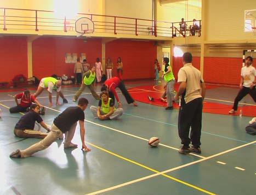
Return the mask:
{"type": "Polygon", "coordinates": [[[154,78],[154,62],[156,46],[153,42],[135,42],[131,40],[115,40],[106,43],[106,60],[111,58],[116,75],[117,58],[123,62],[123,79],[154,78]]]}

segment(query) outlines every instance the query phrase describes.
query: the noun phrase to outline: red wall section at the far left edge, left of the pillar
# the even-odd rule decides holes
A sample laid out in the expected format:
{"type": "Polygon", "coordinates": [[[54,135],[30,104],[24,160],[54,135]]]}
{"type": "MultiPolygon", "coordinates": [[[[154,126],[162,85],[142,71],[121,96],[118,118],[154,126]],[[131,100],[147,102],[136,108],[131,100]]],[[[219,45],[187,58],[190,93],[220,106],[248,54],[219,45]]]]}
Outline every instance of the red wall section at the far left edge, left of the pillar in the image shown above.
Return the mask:
{"type": "Polygon", "coordinates": [[[15,75],[27,77],[26,37],[0,38],[0,82],[10,82],[15,75]]]}

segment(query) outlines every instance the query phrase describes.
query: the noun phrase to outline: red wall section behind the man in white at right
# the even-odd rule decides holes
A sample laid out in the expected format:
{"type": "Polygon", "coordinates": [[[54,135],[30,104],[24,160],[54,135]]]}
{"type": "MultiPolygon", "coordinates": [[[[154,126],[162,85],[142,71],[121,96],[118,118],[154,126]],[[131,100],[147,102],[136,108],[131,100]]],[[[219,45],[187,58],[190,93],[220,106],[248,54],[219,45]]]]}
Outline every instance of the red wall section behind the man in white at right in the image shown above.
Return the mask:
{"type": "Polygon", "coordinates": [[[242,58],[204,57],[203,78],[205,82],[238,85],[242,58]]]}

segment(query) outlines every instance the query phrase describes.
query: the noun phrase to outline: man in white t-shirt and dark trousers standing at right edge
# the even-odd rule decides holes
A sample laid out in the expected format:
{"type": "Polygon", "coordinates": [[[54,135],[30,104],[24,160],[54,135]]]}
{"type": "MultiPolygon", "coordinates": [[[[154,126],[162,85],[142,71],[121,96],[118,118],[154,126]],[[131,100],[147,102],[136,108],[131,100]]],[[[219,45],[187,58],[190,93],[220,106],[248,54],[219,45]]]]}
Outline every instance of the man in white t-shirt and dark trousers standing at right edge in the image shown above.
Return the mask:
{"type": "Polygon", "coordinates": [[[252,66],[253,58],[248,56],[246,58],[246,66],[241,69],[241,80],[240,80],[240,91],[238,92],[232,110],[229,111],[229,114],[234,114],[237,112],[238,102],[243,99],[248,93],[256,102],[256,71],[252,66]]]}

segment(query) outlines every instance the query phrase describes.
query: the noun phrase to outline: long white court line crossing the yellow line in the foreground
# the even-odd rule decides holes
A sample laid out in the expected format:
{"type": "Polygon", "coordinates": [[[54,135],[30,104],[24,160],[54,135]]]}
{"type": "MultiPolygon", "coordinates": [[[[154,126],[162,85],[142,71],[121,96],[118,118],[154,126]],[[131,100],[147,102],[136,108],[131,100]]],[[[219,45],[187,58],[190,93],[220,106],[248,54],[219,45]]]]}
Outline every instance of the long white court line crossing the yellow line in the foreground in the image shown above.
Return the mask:
{"type": "Polygon", "coordinates": [[[123,183],[123,184],[116,185],[116,186],[112,186],[112,187],[109,187],[109,188],[105,188],[105,189],[103,189],[103,190],[99,190],[99,191],[96,191],[96,192],[88,193],[88,194],[86,194],[86,195],[94,195],[94,194],[99,194],[99,193],[103,193],[103,192],[115,190],[116,188],[120,188],[120,187],[123,187],[123,186],[127,186],[127,185],[130,185],[130,184],[134,184],[134,183],[136,183],[136,182],[143,181],[143,180],[146,180],[146,179],[150,179],[150,178],[153,178],[153,177],[158,176],[158,175],[161,175],[161,174],[170,173],[170,172],[173,172],[174,170],[178,170],[178,169],[181,169],[181,168],[184,168],[184,167],[191,166],[192,164],[197,164],[197,163],[200,163],[200,162],[202,162],[202,161],[206,161],[206,160],[208,160],[208,159],[211,159],[211,158],[214,158],[214,157],[217,157],[217,156],[220,156],[220,155],[224,155],[225,153],[228,153],[228,152],[231,152],[231,151],[240,149],[241,147],[245,147],[245,146],[248,146],[248,145],[251,145],[251,144],[254,144],[254,143],[256,143],[256,140],[255,140],[255,141],[252,141],[251,143],[243,144],[243,145],[241,145],[241,146],[234,147],[234,148],[232,148],[232,149],[229,149],[229,150],[226,150],[226,151],[217,153],[217,154],[215,154],[215,155],[212,155],[212,156],[209,156],[209,157],[206,157],[206,158],[203,158],[203,159],[199,159],[199,160],[194,161],[194,162],[190,162],[190,163],[184,164],[184,165],[182,165],[182,166],[178,166],[178,167],[174,167],[174,168],[172,168],[172,169],[164,170],[163,172],[160,172],[160,173],[155,173],[155,174],[152,174],[152,175],[148,175],[148,176],[145,176],[145,177],[143,177],[143,178],[139,178],[139,179],[136,179],[136,180],[128,181],[128,182],[125,182],[125,183],[123,183]]]}

